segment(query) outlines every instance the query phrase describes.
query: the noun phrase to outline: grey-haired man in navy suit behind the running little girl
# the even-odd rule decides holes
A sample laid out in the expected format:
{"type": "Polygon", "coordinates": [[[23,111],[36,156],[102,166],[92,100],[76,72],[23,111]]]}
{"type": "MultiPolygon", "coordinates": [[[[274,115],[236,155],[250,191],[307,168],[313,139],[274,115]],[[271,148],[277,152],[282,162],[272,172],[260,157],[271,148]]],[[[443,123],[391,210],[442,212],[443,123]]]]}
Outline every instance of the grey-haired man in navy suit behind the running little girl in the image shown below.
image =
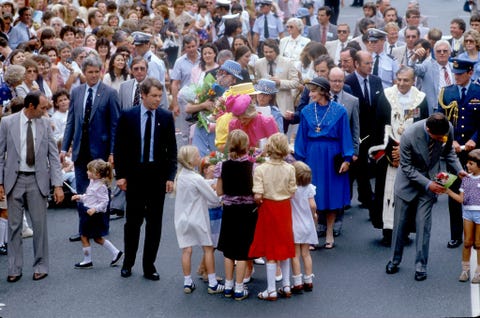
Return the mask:
{"type": "MultiPolygon", "coordinates": [[[[113,163],[113,142],[119,116],[118,94],[100,81],[102,61],[89,57],[82,64],[86,83],[72,90],[60,160],[72,146],[78,193],[85,193],[89,180],[87,164],[93,159],[113,163]]],[[[79,241],[78,234],[70,241],[79,241]]]]}

